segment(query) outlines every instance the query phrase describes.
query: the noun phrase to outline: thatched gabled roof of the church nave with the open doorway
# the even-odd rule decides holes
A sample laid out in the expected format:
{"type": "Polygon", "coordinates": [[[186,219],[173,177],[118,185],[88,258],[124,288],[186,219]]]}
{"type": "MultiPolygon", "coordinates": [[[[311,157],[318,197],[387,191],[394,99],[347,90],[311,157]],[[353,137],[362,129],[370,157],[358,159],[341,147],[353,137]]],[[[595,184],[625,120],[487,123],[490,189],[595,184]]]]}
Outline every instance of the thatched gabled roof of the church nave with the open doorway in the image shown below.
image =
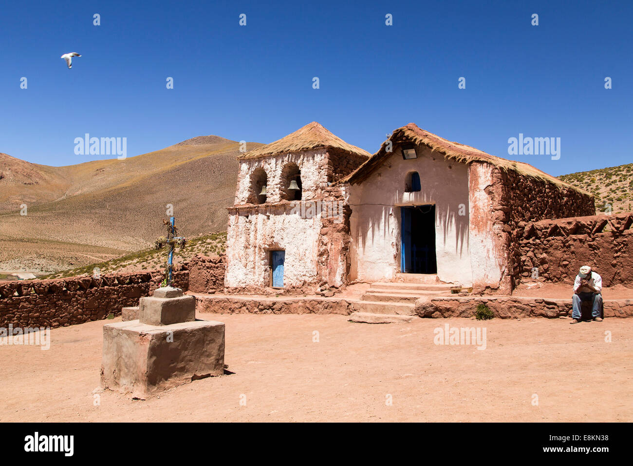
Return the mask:
{"type": "MultiPolygon", "coordinates": [[[[454,160],[455,162],[461,162],[465,164],[468,164],[470,162],[487,162],[501,168],[504,171],[512,170],[524,176],[532,176],[533,178],[539,178],[544,181],[549,181],[550,183],[554,183],[560,188],[572,188],[574,190],[581,191],[582,193],[589,194],[586,191],[575,188],[571,184],[565,183],[558,178],[554,178],[553,176],[548,175],[546,172],[543,172],[536,167],[532,167],[532,165],[530,164],[526,164],[524,162],[515,162],[514,160],[502,159],[501,157],[490,155],[489,153],[486,153],[479,149],[475,149],[474,147],[448,141],[447,139],[437,136],[437,134],[429,133],[429,131],[424,131],[415,123],[410,123],[406,126],[396,129],[396,131],[391,134],[391,137],[389,139],[391,139],[392,141],[394,150],[396,149],[396,146],[404,142],[411,142],[416,145],[424,144],[429,146],[432,150],[444,155],[444,159],[446,160],[454,160]]],[[[360,165],[360,167],[358,167],[355,171],[351,172],[351,174],[339,181],[339,183],[354,184],[360,183],[364,179],[367,179],[367,177],[373,172],[374,169],[379,167],[382,162],[387,159],[387,157],[392,155],[392,152],[385,151],[386,146],[387,141],[382,143],[382,146],[380,146],[380,150],[378,152],[373,154],[370,159],[360,165]]]]}

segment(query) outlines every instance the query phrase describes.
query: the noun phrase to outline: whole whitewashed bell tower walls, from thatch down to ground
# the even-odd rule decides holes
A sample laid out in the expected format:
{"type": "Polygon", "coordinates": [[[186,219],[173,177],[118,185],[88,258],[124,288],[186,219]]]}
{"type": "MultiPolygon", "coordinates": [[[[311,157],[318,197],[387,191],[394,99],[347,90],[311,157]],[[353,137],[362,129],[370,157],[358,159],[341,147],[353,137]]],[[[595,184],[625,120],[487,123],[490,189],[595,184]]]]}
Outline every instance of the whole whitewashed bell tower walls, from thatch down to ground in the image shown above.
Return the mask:
{"type": "Polygon", "coordinates": [[[330,188],[343,174],[365,160],[328,150],[310,150],[240,160],[235,207],[229,210],[225,287],[229,292],[267,292],[270,251],[285,250],[284,289],[279,293],[314,292],[317,287],[341,287],[349,271],[349,212],[342,220],[323,213],[335,204],[339,217],[344,202],[340,188],[330,188]],[[288,201],[284,169],[301,170],[301,201],[288,201]],[[266,172],[265,204],[253,200],[253,173],[266,172]]]}

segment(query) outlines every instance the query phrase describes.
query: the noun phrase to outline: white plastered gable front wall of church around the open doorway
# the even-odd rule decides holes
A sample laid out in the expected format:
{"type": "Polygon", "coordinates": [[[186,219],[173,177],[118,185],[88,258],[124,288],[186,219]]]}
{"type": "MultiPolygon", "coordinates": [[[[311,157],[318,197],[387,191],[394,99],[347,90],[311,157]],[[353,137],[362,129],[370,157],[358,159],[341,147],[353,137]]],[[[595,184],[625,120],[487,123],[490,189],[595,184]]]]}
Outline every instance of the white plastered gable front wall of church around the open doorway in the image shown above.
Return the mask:
{"type": "Polygon", "coordinates": [[[446,161],[427,146],[418,146],[417,153],[417,159],[403,160],[394,148],[379,169],[348,187],[351,280],[392,280],[400,271],[400,206],[435,204],[437,276],[443,282],[472,283],[467,166],[446,161]],[[410,171],[420,174],[418,192],[404,191],[410,171]]]}

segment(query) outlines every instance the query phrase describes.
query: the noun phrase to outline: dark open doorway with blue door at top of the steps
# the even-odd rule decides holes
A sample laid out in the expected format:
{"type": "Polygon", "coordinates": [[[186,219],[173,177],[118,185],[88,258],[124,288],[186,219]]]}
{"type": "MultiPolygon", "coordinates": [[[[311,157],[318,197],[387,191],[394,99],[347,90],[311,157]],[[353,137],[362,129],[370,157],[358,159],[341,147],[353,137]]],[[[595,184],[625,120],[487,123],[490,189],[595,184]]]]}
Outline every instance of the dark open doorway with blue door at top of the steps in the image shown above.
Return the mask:
{"type": "Polygon", "coordinates": [[[435,205],[400,207],[401,261],[405,273],[437,273],[435,205]]]}

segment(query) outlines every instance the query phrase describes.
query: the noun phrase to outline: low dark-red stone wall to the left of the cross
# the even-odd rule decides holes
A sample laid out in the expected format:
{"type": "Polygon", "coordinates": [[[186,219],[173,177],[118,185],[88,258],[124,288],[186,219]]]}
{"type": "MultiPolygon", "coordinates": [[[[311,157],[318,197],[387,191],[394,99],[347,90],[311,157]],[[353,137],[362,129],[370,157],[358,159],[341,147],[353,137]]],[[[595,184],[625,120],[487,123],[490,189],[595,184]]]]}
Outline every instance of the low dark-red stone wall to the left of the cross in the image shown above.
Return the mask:
{"type": "MultiPolygon", "coordinates": [[[[121,314],[121,308],[138,306],[164,278],[161,270],[73,277],[54,280],[0,282],[0,327],[66,327],[121,314]]],[[[174,273],[177,287],[187,290],[189,270],[174,273]]]]}

